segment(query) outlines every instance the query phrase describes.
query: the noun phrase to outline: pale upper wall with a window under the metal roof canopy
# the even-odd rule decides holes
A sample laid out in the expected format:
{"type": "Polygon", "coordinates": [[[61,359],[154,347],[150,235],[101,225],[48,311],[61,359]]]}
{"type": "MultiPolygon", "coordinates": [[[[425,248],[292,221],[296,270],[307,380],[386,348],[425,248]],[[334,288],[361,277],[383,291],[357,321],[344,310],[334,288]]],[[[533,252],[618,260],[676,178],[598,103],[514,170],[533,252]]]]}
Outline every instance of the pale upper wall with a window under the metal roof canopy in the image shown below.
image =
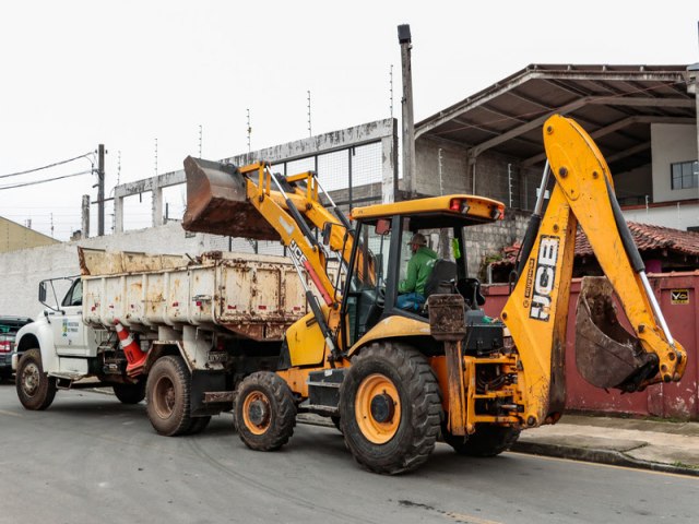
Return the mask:
{"type": "Polygon", "coordinates": [[[672,123],[651,124],[653,202],[699,198],[699,189],[672,189],[670,165],[697,159],[697,128],[672,123]]]}

